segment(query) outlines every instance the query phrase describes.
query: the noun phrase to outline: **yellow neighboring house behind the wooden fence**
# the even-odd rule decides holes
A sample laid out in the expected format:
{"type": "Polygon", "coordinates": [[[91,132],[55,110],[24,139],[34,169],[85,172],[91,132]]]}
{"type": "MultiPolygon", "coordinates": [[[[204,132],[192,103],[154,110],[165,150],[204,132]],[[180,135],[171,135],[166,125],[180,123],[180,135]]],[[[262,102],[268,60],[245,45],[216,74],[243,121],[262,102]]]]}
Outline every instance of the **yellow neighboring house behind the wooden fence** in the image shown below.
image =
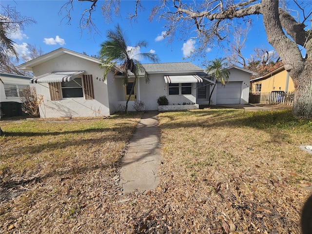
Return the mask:
{"type": "Polygon", "coordinates": [[[283,65],[262,77],[252,78],[250,82],[252,93],[272,93],[272,91],[292,93],[294,91],[292,78],[283,65]]]}

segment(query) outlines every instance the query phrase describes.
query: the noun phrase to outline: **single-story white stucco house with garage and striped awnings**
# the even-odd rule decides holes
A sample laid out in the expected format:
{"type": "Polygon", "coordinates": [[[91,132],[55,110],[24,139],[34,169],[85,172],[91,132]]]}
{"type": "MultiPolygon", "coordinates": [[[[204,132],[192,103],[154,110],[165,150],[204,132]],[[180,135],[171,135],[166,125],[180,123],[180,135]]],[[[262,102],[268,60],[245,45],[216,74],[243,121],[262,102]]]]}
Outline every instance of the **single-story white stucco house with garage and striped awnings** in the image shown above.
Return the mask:
{"type": "MultiPolygon", "coordinates": [[[[40,117],[96,117],[108,116],[125,105],[132,87],[121,76],[110,72],[102,78],[104,68],[100,60],[59,48],[18,66],[33,72],[31,83],[43,95],[40,117]]],[[[145,83],[141,74],[131,97],[128,110],[135,101],[143,101],[145,110],[158,110],[157,99],[166,96],[169,105],[208,104],[210,86],[214,84],[203,69],[190,62],[143,64],[150,74],[145,83]]],[[[115,68],[117,69],[117,68],[115,68]]],[[[230,82],[217,84],[212,104],[245,104],[249,98],[249,77],[253,72],[230,67],[230,82]]],[[[198,106],[198,105],[197,105],[198,106]]]]}

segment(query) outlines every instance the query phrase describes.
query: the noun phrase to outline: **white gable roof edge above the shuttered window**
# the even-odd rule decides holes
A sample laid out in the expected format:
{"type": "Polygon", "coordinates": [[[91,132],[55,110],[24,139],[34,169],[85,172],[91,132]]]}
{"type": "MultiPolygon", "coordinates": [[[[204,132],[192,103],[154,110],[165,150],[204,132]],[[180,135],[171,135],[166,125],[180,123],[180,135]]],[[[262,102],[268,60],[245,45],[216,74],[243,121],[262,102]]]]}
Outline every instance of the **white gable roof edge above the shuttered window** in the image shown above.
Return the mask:
{"type": "Polygon", "coordinates": [[[54,58],[57,58],[59,57],[60,55],[63,55],[63,54],[70,54],[70,55],[73,55],[73,56],[76,56],[76,57],[79,57],[79,58],[82,58],[82,59],[87,59],[89,61],[92,61],[92,62],[96,62],[96,63],[100,63],[101,60],[99,59],[95,59],[93,57],[89,57],[89,56],[86,56],[86,55],[83,55],[83,54],[79,54],[75,51],[71,51],[71,50],[68,50],[68,49],[65,49],[65,48],[59,48],[57,50],[54,50],[54,51],[51,51],[47,54],[44,54],[44,55],[41,55],[39,56],[38,58],[36,59],[32,59],[28,62],[24,62],[22,64],[20,64],[19,66],[17,66],[18,69],[20,70],[28,70],[28,71],[32,71],[33,70],[33,67],[43,63],[43,62],[46,62],[46,61],[49,61],[51,59],[54,59],[54,58]]]}

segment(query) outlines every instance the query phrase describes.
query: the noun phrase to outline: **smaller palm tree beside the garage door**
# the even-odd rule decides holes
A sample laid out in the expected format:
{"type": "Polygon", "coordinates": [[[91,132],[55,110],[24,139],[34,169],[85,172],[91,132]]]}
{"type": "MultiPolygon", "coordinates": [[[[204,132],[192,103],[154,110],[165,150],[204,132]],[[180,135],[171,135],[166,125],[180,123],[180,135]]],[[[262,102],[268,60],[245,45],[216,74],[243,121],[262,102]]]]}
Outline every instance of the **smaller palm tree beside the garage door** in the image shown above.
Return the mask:
{"type": "MultiPolygon", "coordinates": [[[[213,77],[215,85],[217,81],[221,82],[222,85],[225,85],[225,81],[229,81],[230,72],[225,68],[226,65],[227,63],[225,62],[225,58],[219,58],[209,62],[205,72],[213,77]]],[[[209,96],[209,105],[211,102],[211,96],[215,90],[215,85],[209,96]]]]}

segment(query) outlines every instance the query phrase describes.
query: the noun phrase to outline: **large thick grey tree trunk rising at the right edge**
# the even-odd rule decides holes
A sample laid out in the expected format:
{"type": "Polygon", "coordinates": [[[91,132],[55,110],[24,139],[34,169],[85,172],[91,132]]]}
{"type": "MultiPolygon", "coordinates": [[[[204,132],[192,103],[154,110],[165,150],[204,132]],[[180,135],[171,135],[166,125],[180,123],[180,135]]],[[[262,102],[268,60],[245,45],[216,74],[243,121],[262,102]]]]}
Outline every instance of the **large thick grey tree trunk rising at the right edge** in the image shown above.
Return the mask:
{"type": "Polygon", "coordinates": [[[303,59],[297,43],[285,35],[279,19],[277,0],[262,0],[261,4],[268,42],[276,49],[294,83],[292,113],[296,117],[310,118],[312,117],[311,51],[307,50],[307,59],[303,59]]]}

